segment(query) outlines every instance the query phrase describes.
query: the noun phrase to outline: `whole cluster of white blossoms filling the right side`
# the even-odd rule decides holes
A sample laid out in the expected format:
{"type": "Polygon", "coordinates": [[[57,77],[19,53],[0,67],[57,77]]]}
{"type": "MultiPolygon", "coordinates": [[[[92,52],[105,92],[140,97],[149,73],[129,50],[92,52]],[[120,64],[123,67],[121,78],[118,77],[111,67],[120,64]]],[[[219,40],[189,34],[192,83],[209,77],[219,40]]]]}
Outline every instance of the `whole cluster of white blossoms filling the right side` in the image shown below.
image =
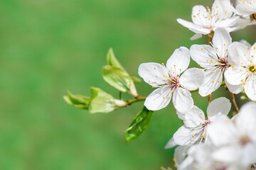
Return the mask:
{"type": "MultiPolygon", "coordinates": [[[[256,23],[256,1],[215,0],[212,8],[194,6],[192,21],[177,20],[196,35],[208,36],[208,45],[176,49],[166,65],[154,62],[139,66],[139,76],[154,90],[144,106],[151,111],[166,107],[172,98],[183,125],[166,148],[176,148],[178,169],[256,169],[256,42],[232,42],[230,32],[256,23]],[[245,24],[246,23],[246,24],[245,24]],[[212,40],[210,41],[210,39],[212,40]],[[190,58],[202,69],[188,69],[190,58]],[[227,98],[210,101],[221,85],[233,94],[246,94],[250,103],[228,118],[227,98]],[[208,96],[207,112],[194,106],[191,91],[208,96]]],[[[234,96],[234,106],[237,108],[234,96]]]]}

